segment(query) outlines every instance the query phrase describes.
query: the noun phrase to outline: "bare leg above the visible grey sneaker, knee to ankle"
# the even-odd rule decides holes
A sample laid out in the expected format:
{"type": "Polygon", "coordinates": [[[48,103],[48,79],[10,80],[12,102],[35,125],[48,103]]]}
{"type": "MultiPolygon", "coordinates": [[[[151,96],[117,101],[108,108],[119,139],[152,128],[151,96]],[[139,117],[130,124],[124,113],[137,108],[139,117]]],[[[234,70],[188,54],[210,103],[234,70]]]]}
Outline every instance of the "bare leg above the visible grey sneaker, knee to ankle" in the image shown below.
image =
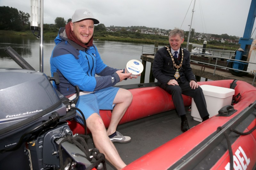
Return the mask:
{"type": "Polygon", "coordinates": [[[116,104],[111,115],[110,124],[108,126],[107,134],[111,135],[116,131],[116,127],[127,108],[132,102],[132,93],[128,90],[120,88],[116,93],[116,97],[113,101],[113,104],[116,104]]]}

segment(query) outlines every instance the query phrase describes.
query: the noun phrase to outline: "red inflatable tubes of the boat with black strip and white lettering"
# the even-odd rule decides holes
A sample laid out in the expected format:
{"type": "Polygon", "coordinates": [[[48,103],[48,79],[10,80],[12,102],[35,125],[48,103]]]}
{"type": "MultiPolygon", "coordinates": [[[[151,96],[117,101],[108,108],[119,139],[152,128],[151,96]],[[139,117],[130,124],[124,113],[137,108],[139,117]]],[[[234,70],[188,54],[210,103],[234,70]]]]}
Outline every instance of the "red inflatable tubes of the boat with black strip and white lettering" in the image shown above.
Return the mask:
{"type": "MultiPolygon", "coordinates": [[[[198,82],[199,85],[225,88],[230,88],[232,83],[233,80],[198,82]]],[[[124,169],[229,169],[232,166],[234,169],[254,169],[256,88],[236,81],[234,89],[233,97],[241,96],[241,99],[234,106],[227,107],[227,112],[231,114],[216,113],[207,121],[134,160],[124,169]]],[[[158,86],[129,90],[133,101],[120,124],[175,109],[171,95],[158,86]]],[[[183,100],[185,106],[191,106],[190,97],[184,95],[183,100]]],[[[111,111],[100,110],[100,115],[107,128],[111,111]]],[[[74,121],[69,122],[69,126],[73,134],[84,133],[83,126],[74,121]]]]}

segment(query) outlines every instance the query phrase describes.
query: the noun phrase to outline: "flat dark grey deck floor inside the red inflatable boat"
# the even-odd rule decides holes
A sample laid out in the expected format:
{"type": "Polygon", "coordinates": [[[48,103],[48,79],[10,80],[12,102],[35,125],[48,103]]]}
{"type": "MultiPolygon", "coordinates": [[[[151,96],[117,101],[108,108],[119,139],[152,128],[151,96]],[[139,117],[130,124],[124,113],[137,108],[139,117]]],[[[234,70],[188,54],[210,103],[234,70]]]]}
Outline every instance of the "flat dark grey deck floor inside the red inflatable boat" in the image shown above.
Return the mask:
{"type": "MultiPolygon", "coordinates": [[[[188,110],[188,107],[186,107],[188,110]]],[[[192,128],[200,122],[193,120],[190,112],[187,112],[189,127],[192,128]]],[[[117,131],[124,136],[130,136],[131,142],[126,144],[114,143],[120,157],[127,165],[174,137],[182,134],[180,130],[180,117],[175,110],[148,116],[136,121],[128,122],[117,127],[117,131]]],[[[87,140],[90,147],[93,146],[92,138],[87,140]]],[[[107,170],[115,168],[106,161],[107,170]]]]}

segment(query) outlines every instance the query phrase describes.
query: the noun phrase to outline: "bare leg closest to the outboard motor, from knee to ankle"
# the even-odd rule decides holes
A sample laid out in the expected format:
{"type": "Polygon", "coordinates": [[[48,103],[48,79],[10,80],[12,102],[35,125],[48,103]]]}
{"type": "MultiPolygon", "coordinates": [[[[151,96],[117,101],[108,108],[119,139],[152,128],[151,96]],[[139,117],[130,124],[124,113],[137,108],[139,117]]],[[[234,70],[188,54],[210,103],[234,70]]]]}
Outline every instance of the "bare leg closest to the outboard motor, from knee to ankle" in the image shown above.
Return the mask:
{"type": "Polygon", "coordinates": [[[121,169],[126,166],[123,160],[120,158],[116,147],[110,141],[105,125],[101,117],[94,113],[86,120],[87,128],[92,132],[93,142],[95,147],[99,149],[100,153],[103,153],[106,159],[116,167],[121,169]]]}

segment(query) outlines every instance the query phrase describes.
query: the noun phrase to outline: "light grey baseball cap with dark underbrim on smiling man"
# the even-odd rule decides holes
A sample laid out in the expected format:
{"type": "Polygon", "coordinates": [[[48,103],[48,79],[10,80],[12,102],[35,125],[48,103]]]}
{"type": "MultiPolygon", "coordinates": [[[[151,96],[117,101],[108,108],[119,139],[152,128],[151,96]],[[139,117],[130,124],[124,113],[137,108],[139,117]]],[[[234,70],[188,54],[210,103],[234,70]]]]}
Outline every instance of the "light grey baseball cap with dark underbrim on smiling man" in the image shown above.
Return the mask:
{"type": "Polygon", "coordinates": [[[100,22],[94,18],[91,11],[86,8],[77,9],[72,15],[72,22],[78,22],[83,19],[92,19],[94,24],[99,24],[100,22]]]}

